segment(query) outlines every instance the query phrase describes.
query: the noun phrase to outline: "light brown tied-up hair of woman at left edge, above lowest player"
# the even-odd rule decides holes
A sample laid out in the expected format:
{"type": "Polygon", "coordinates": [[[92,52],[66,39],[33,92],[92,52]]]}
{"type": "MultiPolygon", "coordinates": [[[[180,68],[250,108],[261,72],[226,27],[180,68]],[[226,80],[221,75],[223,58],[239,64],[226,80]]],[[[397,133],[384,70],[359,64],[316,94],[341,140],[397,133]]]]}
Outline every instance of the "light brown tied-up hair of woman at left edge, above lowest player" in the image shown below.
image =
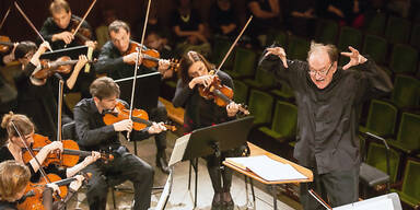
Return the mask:
{"type": "Polygon", "coordinates": [[[9,138],[19,137],[13,124],[22,136],[31,135],[35,131],[35,126],[30,118],[25,115],[13,114],[13,112],[10,112],[3,116],[1,121],[1,127],[8,131],[9,138]]]}

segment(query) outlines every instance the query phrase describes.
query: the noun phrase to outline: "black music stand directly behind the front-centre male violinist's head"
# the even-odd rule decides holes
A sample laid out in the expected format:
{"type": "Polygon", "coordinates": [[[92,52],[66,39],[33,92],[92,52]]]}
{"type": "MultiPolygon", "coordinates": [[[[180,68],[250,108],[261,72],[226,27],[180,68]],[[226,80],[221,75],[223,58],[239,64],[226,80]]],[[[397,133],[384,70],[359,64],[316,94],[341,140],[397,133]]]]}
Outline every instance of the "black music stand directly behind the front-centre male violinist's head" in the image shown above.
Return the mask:
{"type": "MultiPolygon", "coordinates": [[[[115,80],[120,90],[119,98],[125,102],[131,101],[132,79],[133,77],[115,80]]],[[[136,80],[136,97],[133,100],[133,107],[141,108],[150,113],[153,108],[158,107],[161,73],[144,73],[138,75],[136,80]]],[[[133,144],[135,154],[137,155],[137,142],[135,141],[133,144]]]]}

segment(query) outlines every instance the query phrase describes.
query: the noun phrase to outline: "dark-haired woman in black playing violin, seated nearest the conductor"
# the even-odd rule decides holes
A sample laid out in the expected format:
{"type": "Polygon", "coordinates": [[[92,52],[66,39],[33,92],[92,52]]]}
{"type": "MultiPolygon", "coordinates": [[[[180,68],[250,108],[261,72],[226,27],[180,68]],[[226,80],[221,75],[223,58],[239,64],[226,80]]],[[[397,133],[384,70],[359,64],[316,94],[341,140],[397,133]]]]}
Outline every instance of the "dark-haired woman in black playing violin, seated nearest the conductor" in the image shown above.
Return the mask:
{"type": "MultiPolygon", "coordinates": [[[[231,103],[226,107],[220,107],[215,105],[213,101],[205,100],[198,92],[199,86],[207,86],[213,80],[214,75],[209,73],[212,69],[214,69],[214,66],[195,51],[189,51],[180,61],[180,79],[178,80],[172,103],[175,107],[185,107],[184,129],[187,132],[235,119],[238,105],[231,103]],[[192,54],[196,54],[196,57],[199,59],[195,59],[192,54]]],[[[233,88],[233,81],[229,74],[219,71],[217,75],[220,78],[222,85],[233,88]]],[[[230,192],[232,171],[226,167],[220,170],[220,167],[226,156],[235,156],[238,154],[238,150],[232,150],[222,152],[220,160],[218,160],[215,155],[205,158],[214,190],[212,209],[233,209],[234,207],[230,192]],[[221,183],[221,177],[223,183],[221,183]]]]}

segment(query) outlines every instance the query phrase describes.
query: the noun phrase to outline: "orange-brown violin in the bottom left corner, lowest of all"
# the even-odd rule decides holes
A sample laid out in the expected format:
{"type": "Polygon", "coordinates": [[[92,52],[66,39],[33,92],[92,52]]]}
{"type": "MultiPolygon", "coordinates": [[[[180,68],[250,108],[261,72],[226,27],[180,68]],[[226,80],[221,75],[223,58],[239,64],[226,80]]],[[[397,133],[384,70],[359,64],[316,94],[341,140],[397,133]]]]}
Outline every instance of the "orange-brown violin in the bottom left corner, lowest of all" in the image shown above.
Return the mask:
{"type": "MultiPolygon", "coordinates": [[[[92,174],[85,173],[83,174],[83,176],[84,176],[84,180],[88,180],[89,178],[92,177],[92,174]]],[[[50,184],[56,184],[60,189],[60,194],[58,196],[57,195],[54,196],[55,200],[65,198],[68,194],[68,188],[66,185],[77,179],[75,177],[61,179],[56,174],[48,174],[47,177],[50,180],[50,184]]],[[[38,183],[30,182],[25,189],[25,194],[24,194],[25,198],[21,199],[18,202],[18,209],[19,210],[27,210],[27,209],[43,210],[44,209],[43,192],[46,184],[47,183],[45,179],[42,179],[38,183]]]]}

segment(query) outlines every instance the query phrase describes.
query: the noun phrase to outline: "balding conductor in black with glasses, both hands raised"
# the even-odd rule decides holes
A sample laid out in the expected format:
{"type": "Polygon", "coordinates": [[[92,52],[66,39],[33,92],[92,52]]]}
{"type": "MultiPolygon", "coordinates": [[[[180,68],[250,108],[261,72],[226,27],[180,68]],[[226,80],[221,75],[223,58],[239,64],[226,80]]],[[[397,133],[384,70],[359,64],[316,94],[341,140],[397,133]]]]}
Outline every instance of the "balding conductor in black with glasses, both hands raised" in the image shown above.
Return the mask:
{"type": "Polygon", "coordinates": [[[372,59],[341,52],[350,62],[338,67],[334,45],[312,43],[307,61],[287,60],[283,48],[271,46],[259,62],[294,89],[298,104],[298,137],[294,158],[314,173],[314,182],[301,184],[304,209],[320,209],[311,198],[313,188],[332,207],[359,198],[359,114],[365,100],[389,93],[389,77],[372,59]],[[360,70],[352,69],[357,67],[360,70]]]}

